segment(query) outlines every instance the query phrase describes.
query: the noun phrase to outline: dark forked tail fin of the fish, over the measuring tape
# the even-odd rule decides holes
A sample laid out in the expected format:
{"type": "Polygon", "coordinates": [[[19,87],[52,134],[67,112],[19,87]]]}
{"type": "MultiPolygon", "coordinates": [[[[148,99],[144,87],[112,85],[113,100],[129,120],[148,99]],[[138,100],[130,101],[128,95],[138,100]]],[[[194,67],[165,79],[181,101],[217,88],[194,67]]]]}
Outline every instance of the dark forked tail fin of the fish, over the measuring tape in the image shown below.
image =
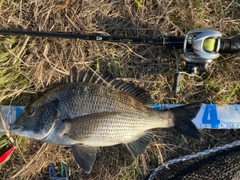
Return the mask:
{"type": "Polygon", "coordinates": [[[192,122],[192,119],[195,118],[200,107],[200,103],[194,103],[169,109],[173,115],[173,128],[183,135],[200,139],[200,133],[192,122]]]}

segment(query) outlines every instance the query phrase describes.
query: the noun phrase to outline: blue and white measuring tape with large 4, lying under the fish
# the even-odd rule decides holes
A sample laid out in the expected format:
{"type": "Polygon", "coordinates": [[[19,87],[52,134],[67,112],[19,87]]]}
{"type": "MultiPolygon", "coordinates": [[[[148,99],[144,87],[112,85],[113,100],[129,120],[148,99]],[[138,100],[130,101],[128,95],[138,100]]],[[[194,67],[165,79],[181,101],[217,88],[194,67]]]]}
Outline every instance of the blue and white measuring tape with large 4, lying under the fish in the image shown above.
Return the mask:
{"type": "MultiPolygon", "coordinates": [[[[163,104],[155,105],[152,108],[158,111],[181,106],[182,104],[163,104]]],[[[12,124],[21,115],[24,106],[0,106],[0,113],[9,129],[12,124]]],[[[199,129],[240,129],[240,105],[216,105],[203,104],[192,120],[199,129]]],[[[0,122],[0,135],[5,134],[2,122],[0,122]]]]}

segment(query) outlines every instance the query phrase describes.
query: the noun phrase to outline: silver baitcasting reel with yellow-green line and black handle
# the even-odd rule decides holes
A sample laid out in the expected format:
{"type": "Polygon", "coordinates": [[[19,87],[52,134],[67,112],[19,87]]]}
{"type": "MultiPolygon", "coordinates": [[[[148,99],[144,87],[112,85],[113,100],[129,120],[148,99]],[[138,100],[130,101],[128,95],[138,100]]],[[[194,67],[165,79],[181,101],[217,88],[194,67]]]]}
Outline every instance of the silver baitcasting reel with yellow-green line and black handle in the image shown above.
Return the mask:
{"type": "Polygon", "coordinates": [[[174,92],[180,91],[181,74],[202,75],[207,71],[208,64],[220,56],[221,37],[222,33],[207,29],[197,29],[187,33],[184,39],[183,54],[180,55],[186,62],[186,68],[184,71],[179,71],[177,68],[174,75],[174,92]]]}

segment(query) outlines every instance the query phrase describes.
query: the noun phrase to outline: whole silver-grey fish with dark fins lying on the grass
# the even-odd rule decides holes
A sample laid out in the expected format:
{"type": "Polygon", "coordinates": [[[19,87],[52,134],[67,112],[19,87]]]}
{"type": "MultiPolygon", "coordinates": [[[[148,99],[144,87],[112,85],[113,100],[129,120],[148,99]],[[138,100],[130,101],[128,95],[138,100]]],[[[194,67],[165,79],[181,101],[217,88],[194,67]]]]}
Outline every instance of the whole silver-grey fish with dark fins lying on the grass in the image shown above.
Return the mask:
{"type": "Polygon", "coordinates": [[[19,136],[70,147],[78,166],[90,173],[98,147],[124,144],[135,157],[145,152],[155,128],[173,128],[194,139],[192,119],[201,104],[163,111],[150,108],[151,96],[133,83],[72,70],[68,83],[47,90],[27,105],[10,126],[19,136]]]}

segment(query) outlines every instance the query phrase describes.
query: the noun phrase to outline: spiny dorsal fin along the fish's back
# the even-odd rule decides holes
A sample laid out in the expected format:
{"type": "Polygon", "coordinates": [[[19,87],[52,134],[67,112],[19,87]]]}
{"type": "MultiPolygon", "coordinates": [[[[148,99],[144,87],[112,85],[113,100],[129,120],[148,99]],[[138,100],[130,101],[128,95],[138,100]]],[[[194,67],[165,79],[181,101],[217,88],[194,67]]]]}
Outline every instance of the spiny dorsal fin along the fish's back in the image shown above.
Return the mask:
{"type": "Polygon", "coordinates": [[[112,76],[103,77],[91,70],[81,70],[77,72],[76,68],[72,68],[67,82],[89,82],[100,85],[109,85],[115,89],[124,91],[134,97],[146,106],[154,105],[155,102],[151,96],[142,88],[135,86],[133,83],[126,83],[123,80],[116,80],[112,76]]]}

